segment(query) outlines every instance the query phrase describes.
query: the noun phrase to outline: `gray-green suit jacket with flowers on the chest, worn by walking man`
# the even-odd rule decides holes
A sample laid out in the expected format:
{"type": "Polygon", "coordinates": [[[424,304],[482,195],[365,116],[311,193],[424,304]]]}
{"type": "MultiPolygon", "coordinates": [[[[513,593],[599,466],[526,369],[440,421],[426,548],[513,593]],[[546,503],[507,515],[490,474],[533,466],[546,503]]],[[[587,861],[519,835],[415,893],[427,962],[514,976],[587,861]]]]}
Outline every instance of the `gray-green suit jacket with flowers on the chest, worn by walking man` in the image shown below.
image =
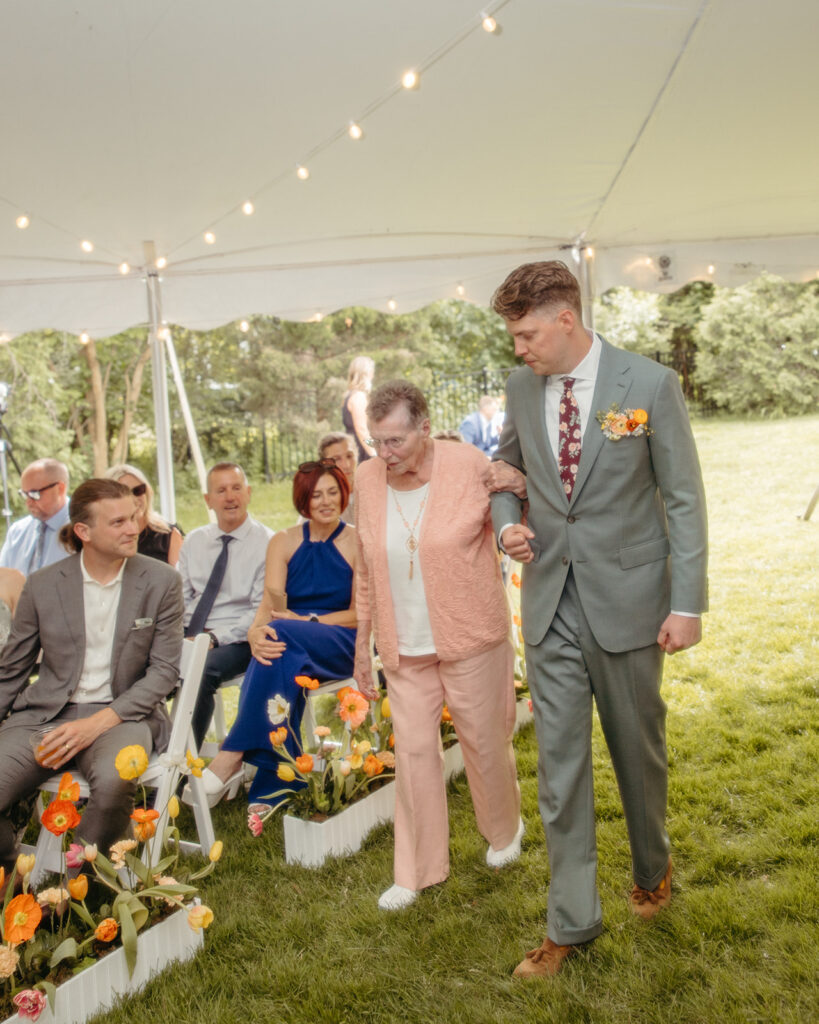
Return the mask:
{"type": "MultiPolygon", "coordinates": [[[[493,456],[527,477],[535,560],[523,569],[523,636],[543,640],[571,565],[600,646],[647,647],[672,608],[707,606],[705,496],[677,375],[603,342],[570,502],[547,435],[545,392],[546,378],[528,367],[510,376],[493,456]],[[653,432],[607,439],[596,414],[614,402],[644,409],[653,432]]],[[[514,495],[493,495],[491,504],[495,530],[520,520],[514,495]]]]}

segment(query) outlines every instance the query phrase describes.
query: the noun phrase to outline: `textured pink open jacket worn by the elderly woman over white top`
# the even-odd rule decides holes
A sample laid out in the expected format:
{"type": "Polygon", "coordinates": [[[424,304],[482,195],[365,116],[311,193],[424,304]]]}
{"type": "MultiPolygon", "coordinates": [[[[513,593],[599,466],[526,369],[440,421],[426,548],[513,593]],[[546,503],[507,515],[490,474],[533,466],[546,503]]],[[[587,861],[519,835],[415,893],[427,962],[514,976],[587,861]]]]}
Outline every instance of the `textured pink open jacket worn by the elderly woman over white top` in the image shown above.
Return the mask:
{"type": "MultiPolygon", "coordinates": [[[[509,606],[501,580],[481,476],[486,457],[471,444],[433,441],[429,497],[419,535],[435,650],[454,662],[501,643],[509,636],[509,606]]],[[[370,459],[355,475],[358,561],[355,604],[358,622],[373,623],[381,659],[398,666],[398,638],[387,567],[387,469],[370,459]]]]}

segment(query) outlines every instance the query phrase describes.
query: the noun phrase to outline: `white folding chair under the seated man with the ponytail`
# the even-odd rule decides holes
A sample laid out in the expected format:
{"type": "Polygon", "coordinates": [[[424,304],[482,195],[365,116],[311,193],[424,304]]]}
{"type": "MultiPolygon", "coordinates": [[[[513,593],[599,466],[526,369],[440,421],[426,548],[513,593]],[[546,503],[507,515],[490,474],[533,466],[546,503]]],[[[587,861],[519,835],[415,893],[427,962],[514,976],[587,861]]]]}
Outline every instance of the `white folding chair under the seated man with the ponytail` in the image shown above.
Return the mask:
{"type": "MultiPolygon", "coordinates": [[[[168,801],[176,792],[179,782],[181,775],[179,766],[184,763],[188,750],[195,756],[197,754],[193,735],[190,731],[190,721],[193,717],[193,708],[199,696],[202,673],[205,671],[205,659],[208,656],[209,647],[210,640],[206,633],[182,643],[182,656],[179,663],[180,685],[171,711],[172,726],[168,749],[164,754],[155,753],[150,756],[148,766],[139,779],[140,783],[157,791],[154,803],[160,811],[160,817],[157,821],[157,834],[150,841],[150,859],[154,862],[159,860],[161,855],[162,836],[168,821],[168,801]]],[[[111,769],[115,770],[114,765],[111,766],[111,769]]],[[[87,798],[89,791],[86,780],[80,772],[74,771],[72,775],[80,783],[80,796],[87,798]]],[[[41,792],[57,793],[61,777],[62,772],[52,775],[40,786],[41,792]]],[[[191,777],[190,781],[195,794],[193,817],[197,822],[199,842],[181,842],[179,847],[185,853],[200,851],[204,856],[207,856],[215,841],[211,812],[201,779],[191,777]]],[[[41,812],[42,800],[38,798],[38,814],[41,812]]],[[[46,872],[59,871],[61,866],[60,848],[59,838],[41,825],[37,846],[33,851],[36,860],[32,872],[32,886],[37,886],[46,872]]],[[[27,849],[31,852],[30,847],[27,849]]],[[[107,853],[107,851],[102,852],[107,853]]]]}

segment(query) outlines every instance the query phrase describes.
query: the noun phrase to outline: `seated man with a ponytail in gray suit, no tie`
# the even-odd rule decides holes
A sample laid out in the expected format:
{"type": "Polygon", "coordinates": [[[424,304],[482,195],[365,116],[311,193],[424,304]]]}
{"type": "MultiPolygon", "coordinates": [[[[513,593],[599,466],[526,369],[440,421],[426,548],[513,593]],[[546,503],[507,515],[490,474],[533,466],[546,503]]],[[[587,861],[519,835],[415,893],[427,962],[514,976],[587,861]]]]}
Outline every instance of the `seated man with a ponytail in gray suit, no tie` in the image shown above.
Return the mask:
{"type": "Polygon", "coordinates": [[[81,483],[61,538],[75,554],[33,573],[0,658],[0,865],[17,854],[20,814],[38,786],[76,766],[91,795],[77,835],[107,851],[128,834],[136,780],[114,760],[168,741],[165,697],[177,682],[182,584],[136,553],[136,503],[116,480],[81,483]],[[42,651],[39,676],[31,683],[42,651]],[[7,716],[7,717],[6,717],[7,716]],[[35,760],[32,737],[49,731],[35,760]]]}

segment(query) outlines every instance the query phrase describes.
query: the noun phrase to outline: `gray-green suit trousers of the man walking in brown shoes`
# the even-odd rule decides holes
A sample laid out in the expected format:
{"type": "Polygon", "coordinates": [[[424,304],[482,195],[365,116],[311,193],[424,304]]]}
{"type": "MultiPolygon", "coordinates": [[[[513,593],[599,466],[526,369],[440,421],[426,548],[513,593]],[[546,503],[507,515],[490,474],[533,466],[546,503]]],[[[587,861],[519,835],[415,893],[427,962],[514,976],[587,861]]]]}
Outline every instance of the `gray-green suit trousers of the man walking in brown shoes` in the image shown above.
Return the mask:
{"type": "Polygon", "coordinates": [[[667,761],[662,651],[657,644],[611,653],[594,638],[569,571],[540,644],[526,645],[540,748],[538,802],[551,881],[547,933],[560,945],[600,934],[592,699],[626,812],[634,879],[659,885],[669,863],[667,761]]]}

